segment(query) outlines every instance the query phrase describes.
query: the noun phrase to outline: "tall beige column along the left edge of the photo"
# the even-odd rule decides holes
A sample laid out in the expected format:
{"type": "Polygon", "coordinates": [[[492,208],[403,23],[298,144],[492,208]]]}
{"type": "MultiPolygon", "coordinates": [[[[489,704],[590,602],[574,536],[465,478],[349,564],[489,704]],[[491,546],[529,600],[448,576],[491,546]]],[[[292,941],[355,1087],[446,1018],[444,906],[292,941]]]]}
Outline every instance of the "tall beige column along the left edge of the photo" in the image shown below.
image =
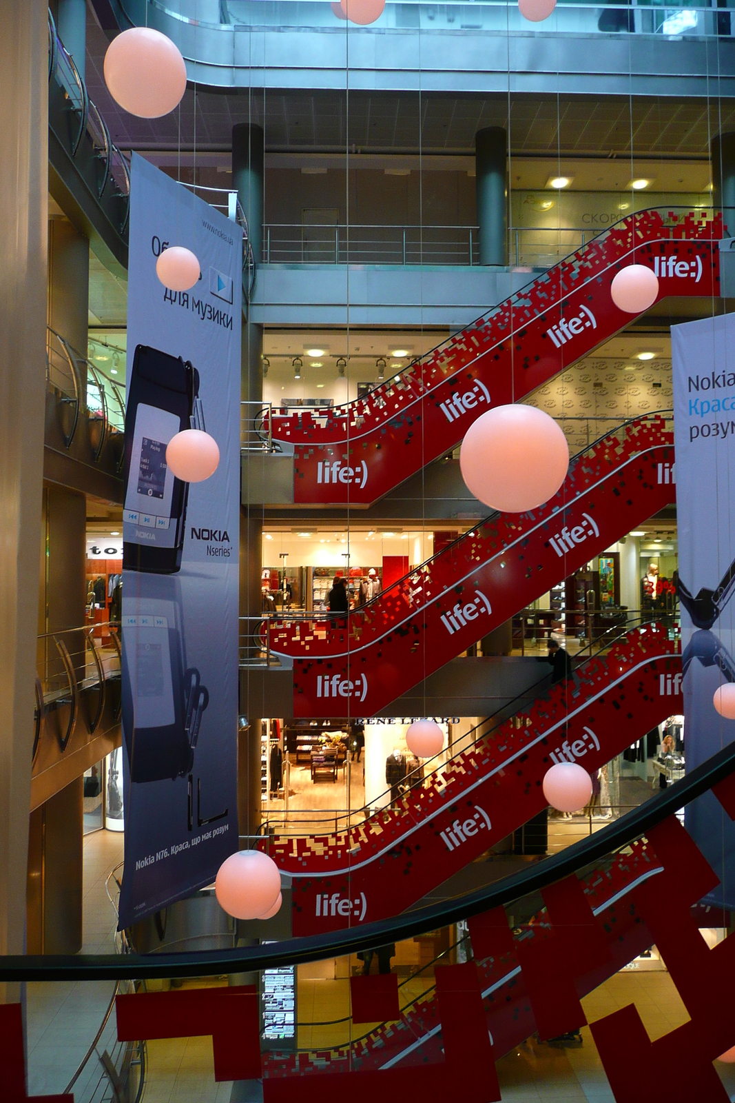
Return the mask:
{"type": "MultiPolygon", "coordinates": [[[[47,7],[0,3],[0,953],[25,928],[45,399],[47,7]]],[[[18,1000],[18,985],[0,985],[18,1000]]]]}

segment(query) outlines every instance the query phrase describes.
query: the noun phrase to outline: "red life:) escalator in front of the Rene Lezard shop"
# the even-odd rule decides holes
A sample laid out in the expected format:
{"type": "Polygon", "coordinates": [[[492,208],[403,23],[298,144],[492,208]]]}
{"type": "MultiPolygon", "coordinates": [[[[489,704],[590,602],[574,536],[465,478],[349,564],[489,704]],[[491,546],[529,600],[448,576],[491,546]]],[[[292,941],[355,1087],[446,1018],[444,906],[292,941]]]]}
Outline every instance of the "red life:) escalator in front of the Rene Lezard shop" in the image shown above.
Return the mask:
{"type": "Polygon", "coordinates": [[[359,825],[272,836],[268,853],[293,878],[293,934],[371,923],[414,904],[547,807],[542,779],[553,762],[592,773],[683,711],[680,672],[673,629],[641,624],[359,825]]]}

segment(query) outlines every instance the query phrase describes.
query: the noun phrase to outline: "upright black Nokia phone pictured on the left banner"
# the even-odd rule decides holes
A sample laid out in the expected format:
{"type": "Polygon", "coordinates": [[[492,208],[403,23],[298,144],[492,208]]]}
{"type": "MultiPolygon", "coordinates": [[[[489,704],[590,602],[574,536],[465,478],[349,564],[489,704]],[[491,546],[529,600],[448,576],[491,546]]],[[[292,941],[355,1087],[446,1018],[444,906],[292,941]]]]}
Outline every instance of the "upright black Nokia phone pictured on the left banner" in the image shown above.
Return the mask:
{"type": "Polygon", "coordinates": [[[181,568],[188,483],[166,464],[183,429],[203,428],[199,374],[181,356],[138,345],[125,424],[122,567],[155,575],[181,568]]]}

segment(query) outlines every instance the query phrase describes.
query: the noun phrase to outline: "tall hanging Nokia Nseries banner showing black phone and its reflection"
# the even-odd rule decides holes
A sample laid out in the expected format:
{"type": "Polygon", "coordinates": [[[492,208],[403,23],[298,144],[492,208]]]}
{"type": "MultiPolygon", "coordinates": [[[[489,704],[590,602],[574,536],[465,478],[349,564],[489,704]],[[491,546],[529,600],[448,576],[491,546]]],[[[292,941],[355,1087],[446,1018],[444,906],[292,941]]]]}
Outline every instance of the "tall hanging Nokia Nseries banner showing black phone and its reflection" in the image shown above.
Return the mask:
{"type": "Polygon", "coordinates": [[[122,515],[125,871],[120,929],[210,884],[237,849],[242,233],[133,153],[122,515]],[[190,291],[155,272],[181,245],[190,291]],[[171,438],[219,465],[183,482],[171,438]]]}

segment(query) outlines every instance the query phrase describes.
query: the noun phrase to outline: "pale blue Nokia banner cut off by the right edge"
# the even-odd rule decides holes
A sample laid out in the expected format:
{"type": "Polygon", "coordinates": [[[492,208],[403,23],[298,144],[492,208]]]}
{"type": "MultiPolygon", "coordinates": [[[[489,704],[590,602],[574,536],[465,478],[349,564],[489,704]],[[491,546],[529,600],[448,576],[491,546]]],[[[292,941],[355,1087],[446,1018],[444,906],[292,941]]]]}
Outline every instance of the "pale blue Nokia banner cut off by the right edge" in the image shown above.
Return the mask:
{"type": "MultiPolygon", "coordinates": [[[[679,600],[687,769],[735,739],[713,696],[735,682],[735,315],[671,328],[679,600]]],[[[735,827],[712,793],[685,826],[721,879],[706,901],[735,909],[735,827]]]]}

